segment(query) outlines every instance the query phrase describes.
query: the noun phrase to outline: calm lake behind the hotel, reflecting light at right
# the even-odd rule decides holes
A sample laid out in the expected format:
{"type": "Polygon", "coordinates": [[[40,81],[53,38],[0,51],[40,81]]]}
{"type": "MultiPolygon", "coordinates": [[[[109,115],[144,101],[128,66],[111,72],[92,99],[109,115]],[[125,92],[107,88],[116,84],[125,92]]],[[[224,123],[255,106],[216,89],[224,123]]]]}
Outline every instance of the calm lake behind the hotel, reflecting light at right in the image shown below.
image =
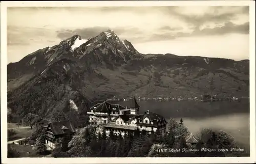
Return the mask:
{"type": "MultiPolygon", "coordinates": [[[[239,101],[202,102],[189,100],[137,101],[140,114],[147,110],[163,116],[166,121],[183,119],[190,132],[196,134],[201,128],[222,129],[231,134],[237,143],[249,149],[249,99],[239,101]]],[[[129,101],[118,101],[129,107],[129,101]]]]}

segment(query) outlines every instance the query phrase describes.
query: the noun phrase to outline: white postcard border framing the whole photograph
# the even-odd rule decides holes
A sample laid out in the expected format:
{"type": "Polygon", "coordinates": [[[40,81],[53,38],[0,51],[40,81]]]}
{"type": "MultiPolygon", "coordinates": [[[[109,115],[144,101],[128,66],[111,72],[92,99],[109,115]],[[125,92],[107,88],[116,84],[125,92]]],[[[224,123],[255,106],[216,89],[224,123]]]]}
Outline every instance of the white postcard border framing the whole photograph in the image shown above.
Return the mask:
{"type": "Polygon", "coordinates": [[[255,159],[255,2],[254,1],[67,1],[1,2],[2,163],[252,163],[255,159]],[[250,157],[7,158],[7,7],[250,6],[250,157]]]}

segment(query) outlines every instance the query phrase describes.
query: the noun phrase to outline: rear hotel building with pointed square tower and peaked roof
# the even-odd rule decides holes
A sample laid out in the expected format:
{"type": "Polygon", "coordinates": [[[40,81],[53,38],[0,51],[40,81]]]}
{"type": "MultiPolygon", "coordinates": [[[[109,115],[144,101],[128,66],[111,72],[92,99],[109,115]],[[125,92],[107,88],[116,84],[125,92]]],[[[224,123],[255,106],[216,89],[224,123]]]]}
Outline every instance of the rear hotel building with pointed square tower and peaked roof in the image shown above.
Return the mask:
{"type": "Polygon", "coordinates": [[[89,122],[94,124],[97,123],[110,123],[119,115],[124,114],[138,114],[139,112],[139,105],[136,99],[131,100],[131,107],[125,108],[120,104],[110,103],[108,101],[103,101],[102,103],[97,103],[96,105],[90,108],[90,112],[87,112],[89,115],[89,122]]]}

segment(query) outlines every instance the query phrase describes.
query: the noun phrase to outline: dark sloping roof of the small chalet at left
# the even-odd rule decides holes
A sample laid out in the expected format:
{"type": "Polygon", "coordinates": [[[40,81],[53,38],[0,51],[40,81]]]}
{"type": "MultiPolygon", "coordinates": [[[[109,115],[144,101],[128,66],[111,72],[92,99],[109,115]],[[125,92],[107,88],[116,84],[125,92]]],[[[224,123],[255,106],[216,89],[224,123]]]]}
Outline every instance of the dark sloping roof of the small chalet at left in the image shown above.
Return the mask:
{"type": "Polygon", "coordinates": [[[65,133],[63,130],[75,132],[75,128],[70,121],[51,122],[48,124],[48,128],[51,128],[54,135],[65,133]]]}

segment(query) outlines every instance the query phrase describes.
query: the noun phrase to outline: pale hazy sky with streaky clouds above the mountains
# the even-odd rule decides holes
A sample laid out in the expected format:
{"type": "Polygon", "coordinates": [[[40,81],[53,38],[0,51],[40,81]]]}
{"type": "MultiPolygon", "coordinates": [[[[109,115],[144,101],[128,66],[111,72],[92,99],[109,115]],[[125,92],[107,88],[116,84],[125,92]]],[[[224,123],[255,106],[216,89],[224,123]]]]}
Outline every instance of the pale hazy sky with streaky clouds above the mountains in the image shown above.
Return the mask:
{"type": "Polygon", "coordinates": [[[8,63],[78,34],[112,29],[141,53],[249,59],[249,7],[12,7],[8,63]]]}

